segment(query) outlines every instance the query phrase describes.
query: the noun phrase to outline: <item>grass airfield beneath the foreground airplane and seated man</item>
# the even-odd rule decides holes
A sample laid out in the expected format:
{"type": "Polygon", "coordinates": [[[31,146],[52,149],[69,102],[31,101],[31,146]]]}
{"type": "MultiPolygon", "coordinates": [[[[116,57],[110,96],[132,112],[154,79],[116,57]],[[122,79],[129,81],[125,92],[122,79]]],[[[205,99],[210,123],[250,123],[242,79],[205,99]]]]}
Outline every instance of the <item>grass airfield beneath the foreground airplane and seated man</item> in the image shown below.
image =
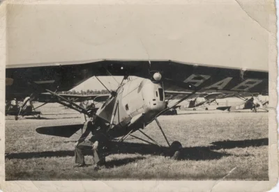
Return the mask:
{"type": "MultiPolygon", "coordinates": [[[[80,131],[71,138],[35,131],[40,126],[80,123],[80,114],[59,104],[47,104],[40,110],[41,120],[6,117],[6,180],[269,179],[268,113],[179,111],[179,115],[160,116],[169,141],[183,145],[181,161],[128,137],[124,143],[114,143],[106,167],[93,171],[90,154],[86,156],[88,167],[73,168],[73,145],[80,131]]],[[[156,122],[145,132],[167,145],[156,122]]]]}

